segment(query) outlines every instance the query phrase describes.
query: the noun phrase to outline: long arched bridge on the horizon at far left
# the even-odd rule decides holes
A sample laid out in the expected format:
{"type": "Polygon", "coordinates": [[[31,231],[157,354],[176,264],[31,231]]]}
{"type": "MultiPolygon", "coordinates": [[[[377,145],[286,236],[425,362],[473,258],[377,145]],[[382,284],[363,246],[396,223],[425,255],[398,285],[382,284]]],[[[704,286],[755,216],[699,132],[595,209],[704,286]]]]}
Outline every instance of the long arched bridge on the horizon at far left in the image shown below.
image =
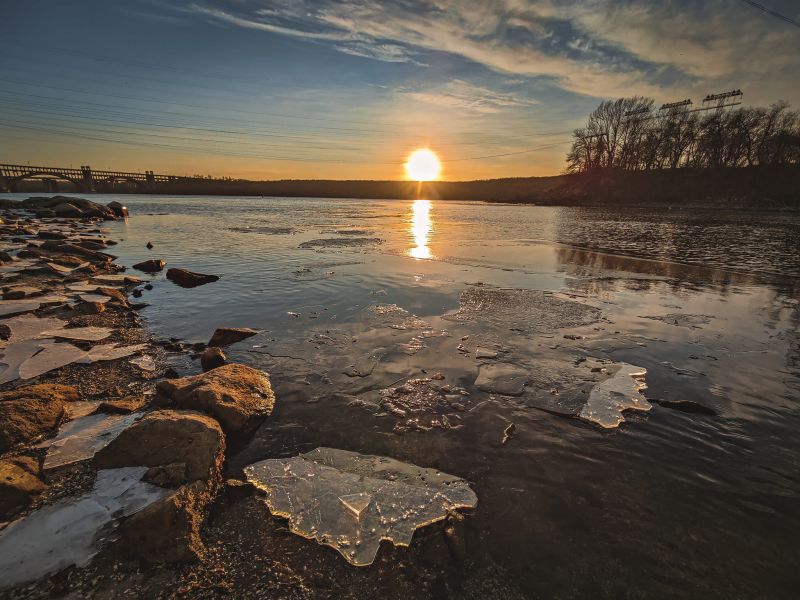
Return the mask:
{"type": "Polygon", "coordinates": [[[159,175],[153,171],[126,173],[124,171],[95,171],[90,166],[77,169],[63,167],[32,167],[31,165],[0,164],[0,191],[14,192],[25,179],[44,181],[48,192],[58,191],[59,181],[69,181],[79,192],[111,191],[115,183],[127,182],[142,192],[154,191],[157,183],[193,180],[196,177],[159,175]]]}

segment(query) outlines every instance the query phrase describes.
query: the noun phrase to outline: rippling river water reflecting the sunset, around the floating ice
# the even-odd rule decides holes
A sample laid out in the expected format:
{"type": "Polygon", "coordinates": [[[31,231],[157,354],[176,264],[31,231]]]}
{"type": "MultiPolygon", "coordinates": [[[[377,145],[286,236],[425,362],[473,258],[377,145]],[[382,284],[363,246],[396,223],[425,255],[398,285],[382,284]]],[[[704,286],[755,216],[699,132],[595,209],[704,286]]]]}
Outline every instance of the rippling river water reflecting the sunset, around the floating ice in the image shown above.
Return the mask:
{"type": "MultiPolygon", "coordinates": [[[[123,238],[121,264],[163,258],[222,277],[191,290],[154,277],[141,314],[155,335],[263,330],[228,355],[268,370],[278,402],[232,471],[329,446],[470,481],[479,503],[455,526],[459,544],[418,531],[351,583],[436,573],[432,588],[408,584],[420,597],[796,592],[797,216],[114,198],[131,210],[106,225],[123,238]],[[652,410],[615,430],[575,418],[602,377],[594,361],[646,369],[652,410]],[[479,389],[496,362],[527,384],[479,389]],[[430,389],[441,385],[444,404],[430,389]]],[[[313,542],[282,543],[298,562],[353,569],[313,542]]]]}

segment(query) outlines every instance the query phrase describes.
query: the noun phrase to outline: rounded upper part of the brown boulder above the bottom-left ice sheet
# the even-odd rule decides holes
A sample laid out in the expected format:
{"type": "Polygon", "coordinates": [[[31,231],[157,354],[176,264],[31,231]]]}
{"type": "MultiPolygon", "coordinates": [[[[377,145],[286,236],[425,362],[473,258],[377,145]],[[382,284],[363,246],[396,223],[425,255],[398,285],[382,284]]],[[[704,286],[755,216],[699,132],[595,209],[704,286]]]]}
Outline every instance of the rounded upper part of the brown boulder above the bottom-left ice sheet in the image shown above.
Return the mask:
{"type": "Polygon", "coordinates": [[[98,469],[185,463],[186,480],[216,477],[225,435],[214,419],[195,412],[159,410],[131,425],[94,456],[98,469]]]}

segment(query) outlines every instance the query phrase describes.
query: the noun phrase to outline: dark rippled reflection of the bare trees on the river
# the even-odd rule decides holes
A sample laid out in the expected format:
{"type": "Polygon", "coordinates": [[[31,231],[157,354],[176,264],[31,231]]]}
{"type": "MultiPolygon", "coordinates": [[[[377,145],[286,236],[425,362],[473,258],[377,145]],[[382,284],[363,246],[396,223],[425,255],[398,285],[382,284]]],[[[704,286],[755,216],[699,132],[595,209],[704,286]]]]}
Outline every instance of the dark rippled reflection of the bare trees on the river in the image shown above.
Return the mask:
{"type": "Polygon", "coordinates": [[[800,219],[791,214],[563,209],[554,228],[557,241],[584,249],[800,277],[800,219]]]}

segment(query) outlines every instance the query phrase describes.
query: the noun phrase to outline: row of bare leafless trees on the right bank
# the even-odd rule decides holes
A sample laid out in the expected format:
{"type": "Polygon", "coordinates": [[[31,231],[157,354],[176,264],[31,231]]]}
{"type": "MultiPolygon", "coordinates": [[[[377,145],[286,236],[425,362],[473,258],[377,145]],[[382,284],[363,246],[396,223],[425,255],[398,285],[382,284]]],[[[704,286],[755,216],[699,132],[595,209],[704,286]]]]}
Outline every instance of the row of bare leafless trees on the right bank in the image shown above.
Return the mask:
{"type": "Polygon", "coordinates": [[[575,130],[567,172],[800,165],[800,112],[785,102],[707,111],[654,104],[602,102],[575,130]]]}

